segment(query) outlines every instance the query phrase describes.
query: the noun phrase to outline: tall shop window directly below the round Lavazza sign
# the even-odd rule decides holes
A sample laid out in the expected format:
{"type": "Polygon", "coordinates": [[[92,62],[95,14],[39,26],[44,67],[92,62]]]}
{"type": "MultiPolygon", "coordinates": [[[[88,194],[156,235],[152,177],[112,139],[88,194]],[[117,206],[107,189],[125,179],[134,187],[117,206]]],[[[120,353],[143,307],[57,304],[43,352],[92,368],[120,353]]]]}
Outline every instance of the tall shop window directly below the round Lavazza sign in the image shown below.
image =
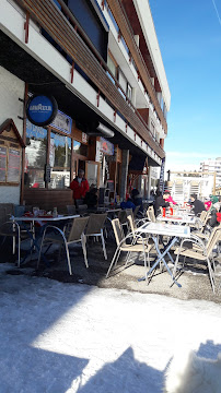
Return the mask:
{"type": "Polygon", "coordinates": [[[24,186],[44,188],[44,174],[47,152],[47,130],[26,121],[26,148],[24,186]]]}

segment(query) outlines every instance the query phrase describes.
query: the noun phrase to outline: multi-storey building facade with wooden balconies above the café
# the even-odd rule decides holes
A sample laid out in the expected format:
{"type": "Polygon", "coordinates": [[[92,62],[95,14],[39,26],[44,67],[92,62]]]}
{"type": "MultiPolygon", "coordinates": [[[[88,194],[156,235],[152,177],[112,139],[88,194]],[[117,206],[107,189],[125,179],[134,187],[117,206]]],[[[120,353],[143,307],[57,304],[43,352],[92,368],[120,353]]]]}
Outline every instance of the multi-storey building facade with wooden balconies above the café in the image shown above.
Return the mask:
{"type": "Polygon", "coordinates": [[[0,202],[68,204],[79,168],[113,199],[144,194],[171,99],[148,1],[2,0],[0,23],[0,202]],[[26,117],[35,95],[57,102],[47,126],[26,117]]]}

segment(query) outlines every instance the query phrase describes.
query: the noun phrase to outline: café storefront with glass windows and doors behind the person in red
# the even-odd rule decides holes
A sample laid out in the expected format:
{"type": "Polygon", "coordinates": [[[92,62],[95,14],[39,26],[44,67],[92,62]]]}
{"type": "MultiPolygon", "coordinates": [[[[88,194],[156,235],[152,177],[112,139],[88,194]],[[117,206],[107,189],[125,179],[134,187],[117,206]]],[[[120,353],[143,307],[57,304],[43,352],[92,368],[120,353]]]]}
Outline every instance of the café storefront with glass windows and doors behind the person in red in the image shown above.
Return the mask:
{"type": "Polygon", "coordinates": [[[109,199],[119,194],[121,151],[102,136],[89,138],[77,126],[60,110],[47,127],[26,119],[22,203],[63,210],[72,203],[69,186],[79,169],[90,186],[109,189],[109,199]]]}

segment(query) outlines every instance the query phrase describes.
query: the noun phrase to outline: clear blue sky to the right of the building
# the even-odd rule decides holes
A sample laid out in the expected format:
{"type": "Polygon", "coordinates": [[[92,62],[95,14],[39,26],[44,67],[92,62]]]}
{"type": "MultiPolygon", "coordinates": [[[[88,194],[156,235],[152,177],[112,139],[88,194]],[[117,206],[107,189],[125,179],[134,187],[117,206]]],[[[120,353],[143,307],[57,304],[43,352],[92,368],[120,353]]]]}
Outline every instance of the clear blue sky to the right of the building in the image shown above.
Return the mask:
{"type": "Polygon", "coordinates": [[[166,170],[221,156],[221,0],[149,0],[171,90],[166,170]]]}

